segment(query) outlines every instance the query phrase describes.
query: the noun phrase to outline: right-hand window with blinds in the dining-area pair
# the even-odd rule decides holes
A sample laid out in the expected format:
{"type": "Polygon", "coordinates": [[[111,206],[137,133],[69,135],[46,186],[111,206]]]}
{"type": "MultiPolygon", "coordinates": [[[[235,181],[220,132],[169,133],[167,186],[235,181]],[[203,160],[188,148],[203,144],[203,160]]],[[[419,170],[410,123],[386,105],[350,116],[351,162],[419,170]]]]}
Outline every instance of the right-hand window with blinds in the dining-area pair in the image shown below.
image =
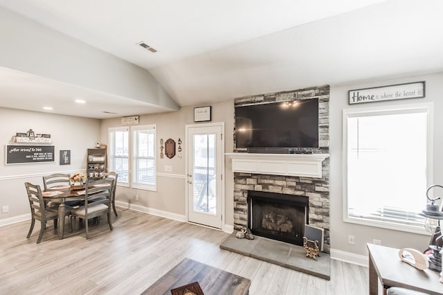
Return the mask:
{"type": "Polygon", "coordinates": [[[132,187],[156,189],[155,125],[132,127],[132,187]]]}

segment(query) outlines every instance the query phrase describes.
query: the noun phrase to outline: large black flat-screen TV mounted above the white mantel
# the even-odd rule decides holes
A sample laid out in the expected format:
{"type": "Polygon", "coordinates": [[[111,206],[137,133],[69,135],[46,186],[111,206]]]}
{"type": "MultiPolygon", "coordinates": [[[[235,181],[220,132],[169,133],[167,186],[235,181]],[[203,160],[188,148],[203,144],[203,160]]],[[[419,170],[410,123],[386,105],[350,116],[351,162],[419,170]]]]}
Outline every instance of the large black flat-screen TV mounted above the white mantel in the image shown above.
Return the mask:
{"type": "Polygon", "coordinates": [[[318,98],[235,107],[235,145],[318,147],[318,98]]]}

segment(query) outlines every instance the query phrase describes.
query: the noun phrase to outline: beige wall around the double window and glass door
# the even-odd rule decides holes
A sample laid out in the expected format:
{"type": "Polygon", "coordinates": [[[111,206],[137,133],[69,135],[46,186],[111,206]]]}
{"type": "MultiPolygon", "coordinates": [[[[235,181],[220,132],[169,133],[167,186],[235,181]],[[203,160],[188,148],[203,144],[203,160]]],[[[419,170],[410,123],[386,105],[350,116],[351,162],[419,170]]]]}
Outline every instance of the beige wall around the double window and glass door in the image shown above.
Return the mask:
{"type": "MultiPolygon", "coordinates": [[[[233,129],[234,129],[234,102],[217,102],[212,106],[212,122],[225,122],[225,152],[233,151],[233,129]]],[[[205,122],[207,123],[207,122],[205,122]]],[[[157,191],[136,190],[132,188],[118,187],[116,190],[116,201],[129,203],[132,206],[149,208],[150,211],[162,211],[176,215],[186,215],[186,130],[185,125],[194,123],[194,107],[182,107],[179,111],[163,114],[150,114],[140,116],[140,125],[157,125],[157,191]],[[172,159],[163,157],[160,159],[160,139],[166,141],[172,138],[176,142],[181,138],[183,144],[182,155],[179,159],[177,154],[172,159]],[[165,165],[172,166],[172,171],[165,171],[165,165]],[[139,196],[136,200],[135,195],[139,196]]],[[[121,126],[120,118],[102,120],[100,142],[107,143],[109,127],[121,126]]],[[[230,159],[225,159],[225,191],[226,212],[225,222],[232,225],[233,217],[233,173],[230,168],[230,159]]],[[[139,207],[140,208],[140,207],[139,207]]]]}

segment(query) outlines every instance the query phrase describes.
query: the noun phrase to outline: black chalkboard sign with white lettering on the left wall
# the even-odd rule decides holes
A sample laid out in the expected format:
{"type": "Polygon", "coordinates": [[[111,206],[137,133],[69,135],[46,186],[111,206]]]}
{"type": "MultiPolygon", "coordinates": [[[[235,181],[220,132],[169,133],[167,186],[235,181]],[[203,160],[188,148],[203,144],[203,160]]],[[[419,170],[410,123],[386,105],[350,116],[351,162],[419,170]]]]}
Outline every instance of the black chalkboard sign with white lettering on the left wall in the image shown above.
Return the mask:
{"type": "Polygon", "coordinates": [[[53,161],[54,145],[6,145],[6,165],[53,161]]]}

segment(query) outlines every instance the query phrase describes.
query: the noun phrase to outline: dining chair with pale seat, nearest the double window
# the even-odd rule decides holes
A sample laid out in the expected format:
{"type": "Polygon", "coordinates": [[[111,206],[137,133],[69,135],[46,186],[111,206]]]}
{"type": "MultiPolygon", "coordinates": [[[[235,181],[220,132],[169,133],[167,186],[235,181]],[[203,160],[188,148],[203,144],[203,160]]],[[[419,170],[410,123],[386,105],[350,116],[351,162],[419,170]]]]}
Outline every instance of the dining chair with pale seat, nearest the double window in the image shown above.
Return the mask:
{"type": "Polygon", "coordinates": [[[89,239],[89,222],[94,217],[107,214],[109,229],[111,224],[111,194],[114,179],[100,179],[86,184],[84,191],[84,205],[71,211],[71,231],[73,231],[73,220],[79,217],[84,220],[86,238],[89,239]]]}

